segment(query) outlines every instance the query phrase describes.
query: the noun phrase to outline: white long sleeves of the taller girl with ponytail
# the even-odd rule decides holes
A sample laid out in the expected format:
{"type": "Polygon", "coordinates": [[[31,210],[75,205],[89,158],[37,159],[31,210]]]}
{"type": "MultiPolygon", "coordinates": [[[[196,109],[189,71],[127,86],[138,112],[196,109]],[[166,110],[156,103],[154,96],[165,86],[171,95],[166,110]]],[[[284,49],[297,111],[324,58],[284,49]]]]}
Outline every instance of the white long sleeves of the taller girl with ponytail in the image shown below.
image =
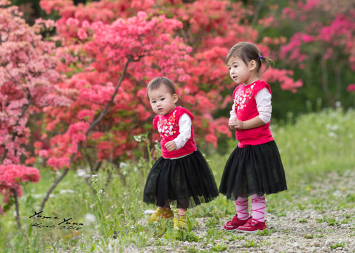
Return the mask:
{"type": "MultiPolygon", "coordinates": [[[[266,88],[261,89],[258,91],[257,95],[255,95],[255,101],[257,102],[257,111],[259,112],[260,119],[262,119],[262,121],[267,124],[271,119],[272,112],[270,91],[266,88]]],[[[230,119],[236,117],[234,103],[230,114],[230,119]]]]}

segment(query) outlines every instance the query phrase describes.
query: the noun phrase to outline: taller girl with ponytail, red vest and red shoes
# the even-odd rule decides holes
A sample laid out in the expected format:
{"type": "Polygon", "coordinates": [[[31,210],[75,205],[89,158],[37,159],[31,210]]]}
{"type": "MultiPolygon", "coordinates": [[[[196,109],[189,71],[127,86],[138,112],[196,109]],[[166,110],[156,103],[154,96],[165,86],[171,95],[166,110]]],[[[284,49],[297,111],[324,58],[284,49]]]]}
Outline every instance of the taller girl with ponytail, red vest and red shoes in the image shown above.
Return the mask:
{"type": "Polygon", "coordinates": [[[239,84],[233,92],[228,123],[236,130],[239,143],[226,162],[219,186],[219,193],[234,200],[237,209],[233,219],[224,225],[226,230],[243,233],[264,230],[264,195],[287,189],[283,164],[269,128],[271,89],[259,79],[269,70],[269,61],[257,46],[248,42],[235,44],[226,58],[231,78],[239,84]],[[249,196],[252,216],[249,216],[249,196]]]}

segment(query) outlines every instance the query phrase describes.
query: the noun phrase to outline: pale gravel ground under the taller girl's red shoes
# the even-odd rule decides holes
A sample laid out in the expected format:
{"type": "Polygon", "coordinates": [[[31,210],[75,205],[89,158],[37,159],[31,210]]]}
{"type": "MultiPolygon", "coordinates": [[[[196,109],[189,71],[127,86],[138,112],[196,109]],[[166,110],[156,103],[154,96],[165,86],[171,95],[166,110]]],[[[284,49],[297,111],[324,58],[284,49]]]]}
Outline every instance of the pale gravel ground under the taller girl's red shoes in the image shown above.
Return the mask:
{"type": "Polygon", "coordinates": [[[209,242],[206,238],[211,237],[207,235],[211,226],[206,224],[211,218],[197,218],[198,225],[192,232],[201,239],[199,242],[157,246],[158,239],[150,238],[150,246],[139,249],[130,245],[124,252],[355,252],[355,171],[323,176],[322,182],[311,186],[295,186],[306,188],[308,194],[295,195],[293,203],[285,201],[283,212],[266,214],[266,235],[226,232],[226,217],[219,219],[215,226],[219,235],[209,242]]]}

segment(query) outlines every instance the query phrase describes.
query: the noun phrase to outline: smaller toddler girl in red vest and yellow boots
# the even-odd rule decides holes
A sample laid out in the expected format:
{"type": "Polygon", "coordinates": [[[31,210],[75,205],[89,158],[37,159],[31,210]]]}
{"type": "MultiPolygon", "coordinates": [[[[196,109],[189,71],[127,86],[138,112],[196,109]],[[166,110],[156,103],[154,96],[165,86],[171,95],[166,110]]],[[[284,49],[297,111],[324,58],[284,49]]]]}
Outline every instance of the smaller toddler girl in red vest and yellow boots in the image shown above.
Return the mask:
{"type": "Polygon", "coordinates": [[[176,106],[178,96],[174,84],[166,77],[149,82],[147,96],[157,114],[153,127],[162,138],[162,157],[147,177],[143,201],[157,205],[148,222],[172,219],[171,203],[179,212],[174,228],[186,228],[185,212],[190,207],[207,203],[219,195],[214,176],[193,140],[193,115],[176,106]]]}

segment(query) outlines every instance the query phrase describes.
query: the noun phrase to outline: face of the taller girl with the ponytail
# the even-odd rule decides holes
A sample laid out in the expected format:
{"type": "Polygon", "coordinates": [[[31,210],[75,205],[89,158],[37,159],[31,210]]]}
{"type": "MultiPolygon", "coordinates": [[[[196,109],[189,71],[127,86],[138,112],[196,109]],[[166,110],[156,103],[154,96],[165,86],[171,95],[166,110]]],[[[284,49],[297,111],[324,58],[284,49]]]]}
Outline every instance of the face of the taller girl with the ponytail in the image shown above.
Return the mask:
{"type": "Polygon", "coordinates": [[[258,77],[254,74],[255,61],[245,64],[239,57],[232,56],[227,63],[229,74],[236,84],[252,84],[258,77]]]}

